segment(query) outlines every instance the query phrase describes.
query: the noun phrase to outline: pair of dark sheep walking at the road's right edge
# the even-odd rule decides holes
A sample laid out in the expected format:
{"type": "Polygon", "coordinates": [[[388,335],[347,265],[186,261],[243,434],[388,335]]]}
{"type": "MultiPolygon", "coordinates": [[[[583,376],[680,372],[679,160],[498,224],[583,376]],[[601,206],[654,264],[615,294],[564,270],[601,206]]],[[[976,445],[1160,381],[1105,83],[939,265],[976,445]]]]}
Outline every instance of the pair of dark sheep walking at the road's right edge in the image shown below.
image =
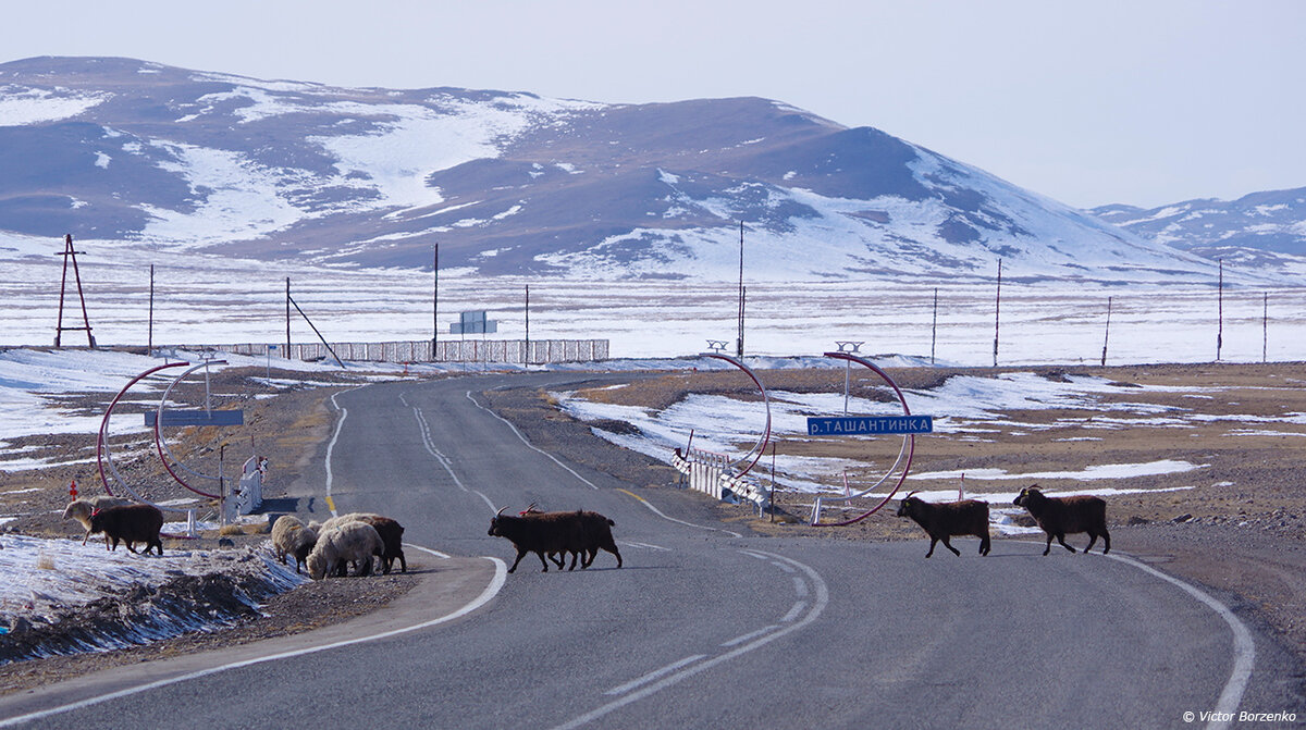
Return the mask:
{"type": "MultiPolygon", "coordinates": [[[[932,504],[925,501],[912,492],[902,498],[899,505],[899,517],[910,517],[917,525],[930,535],[930,551],[926,558],[934,555],[934,546],[943,541],[943,547],[960,556],[961,551],[948,542],[955,535],[974,535],[980,538],[980,555],[989,554],[989,503],[976,499],[932,504]]],[[[1106,532],[1106,501],[1097,496],[1047,496],[1038,484],[1020,490],[1015,504],[1024,507],[1038,522],[1038,526],[1047,534],[1047,547],[1043,555],[1053,548],[1053,538],[1062,547],[1075,552],[1075,548],[1066,545],[1066,535],[1075,533],[1088,533],[1088,546],[1084,552],[1093,548],[1097,538],[1102,538],[1102,554],[1111,550],[1111,535],[1106,532]]]]}

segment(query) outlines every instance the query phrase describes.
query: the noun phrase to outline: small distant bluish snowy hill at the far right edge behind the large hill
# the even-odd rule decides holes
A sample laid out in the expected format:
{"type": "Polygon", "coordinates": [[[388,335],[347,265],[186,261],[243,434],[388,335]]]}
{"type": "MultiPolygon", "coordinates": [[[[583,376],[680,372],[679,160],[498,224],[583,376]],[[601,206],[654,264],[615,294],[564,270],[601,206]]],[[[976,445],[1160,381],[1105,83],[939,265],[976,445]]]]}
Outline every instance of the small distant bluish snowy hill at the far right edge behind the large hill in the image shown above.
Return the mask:
{"type": "Polygon", "coordinates": [[[1187,200],[1144,210],[1107,205],[1093,213],[1156,243],[1285,278],[1306,274],[1306,188],[1238,200],[1187,200]]]}

